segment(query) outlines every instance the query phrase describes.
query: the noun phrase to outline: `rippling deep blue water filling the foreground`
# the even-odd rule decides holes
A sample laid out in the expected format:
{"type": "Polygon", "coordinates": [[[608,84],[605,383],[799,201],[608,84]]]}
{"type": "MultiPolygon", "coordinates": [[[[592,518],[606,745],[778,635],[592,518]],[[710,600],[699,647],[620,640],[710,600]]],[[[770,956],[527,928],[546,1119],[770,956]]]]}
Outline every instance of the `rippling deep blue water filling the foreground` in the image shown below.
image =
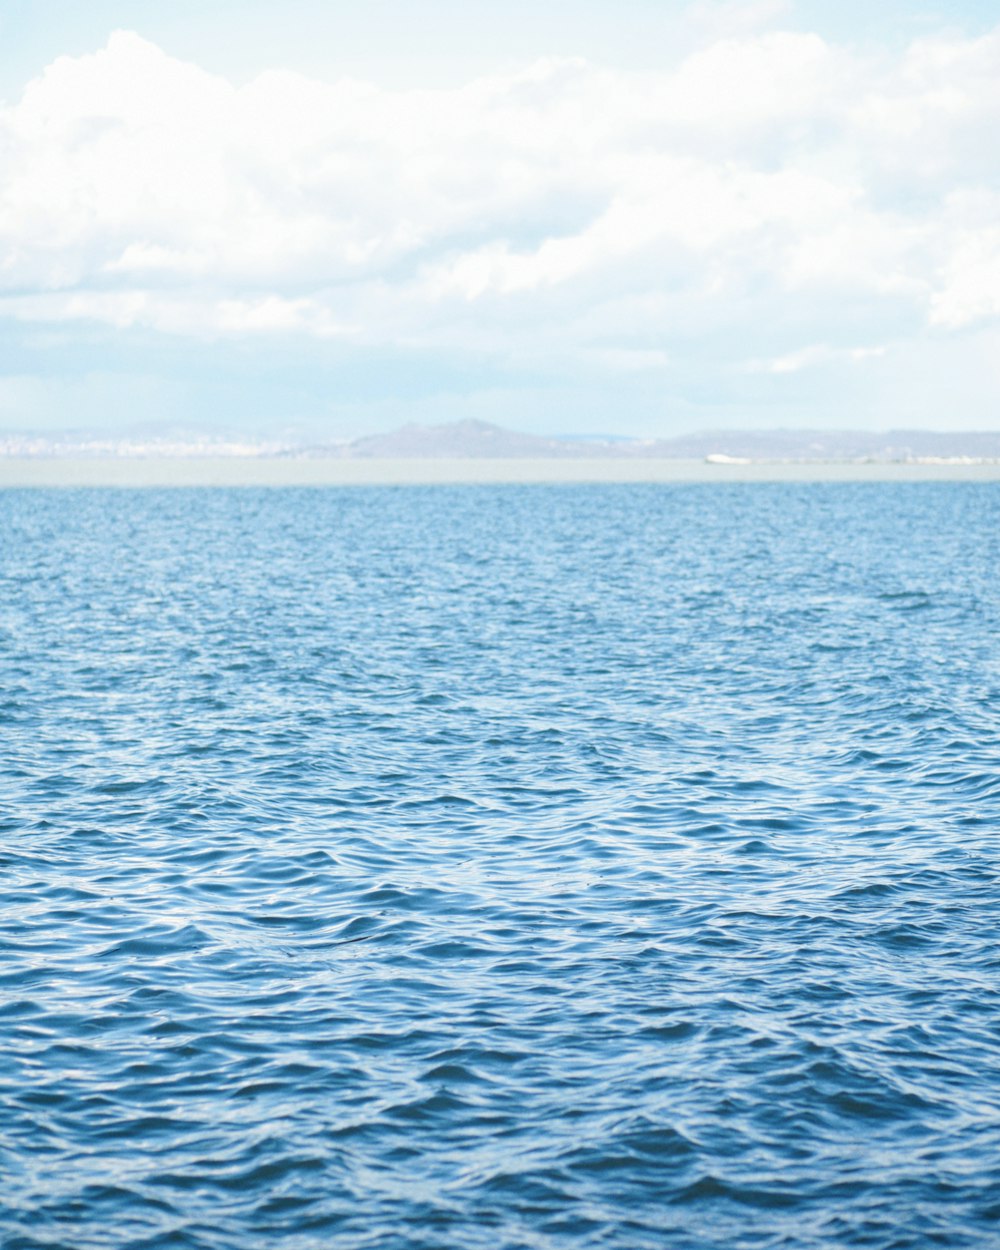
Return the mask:
{"type": "Polygon", "coordinates": [[[0,492],[0,1245],[1000,1245],[1000,488],[0,492]]]}

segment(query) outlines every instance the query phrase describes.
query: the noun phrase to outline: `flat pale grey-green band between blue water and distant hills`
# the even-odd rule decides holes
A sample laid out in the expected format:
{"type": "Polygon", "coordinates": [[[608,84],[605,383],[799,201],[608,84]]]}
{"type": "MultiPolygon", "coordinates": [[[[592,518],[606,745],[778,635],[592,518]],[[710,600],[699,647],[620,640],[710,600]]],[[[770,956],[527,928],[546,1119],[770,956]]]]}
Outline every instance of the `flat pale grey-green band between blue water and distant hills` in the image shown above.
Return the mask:
{"type": "Polygon", "coordinates": [[[858,462],[608,458],[0,456],[0,489],[574,482],[1000,481],[1000,461],[858,462]]]}

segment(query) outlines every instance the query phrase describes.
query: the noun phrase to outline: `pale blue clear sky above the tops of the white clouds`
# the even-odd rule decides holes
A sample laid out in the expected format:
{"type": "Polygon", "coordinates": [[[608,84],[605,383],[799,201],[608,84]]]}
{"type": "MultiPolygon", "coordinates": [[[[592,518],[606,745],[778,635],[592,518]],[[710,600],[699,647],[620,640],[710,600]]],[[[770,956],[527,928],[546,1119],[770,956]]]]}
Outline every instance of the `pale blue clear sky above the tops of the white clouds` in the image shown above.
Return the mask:
{"type": "MultiPolygon", "coordinates": [[[[320,78],[421,86],[545,55],[662,68],[696,46],[699,22],[690,15],[698,8],[682,0],[5,0],[0,96],[16,95],[56,56],[94,51],[116,29],[136,30],[238,81],[284,65],[320,78]]],[[[754,10],[701,6],[711,8],[754,10]]],[[[782,8],[794,29],[869,46],[942,30],[984,34],[999,20],[994,0],[798,0],[782,8]]]]}

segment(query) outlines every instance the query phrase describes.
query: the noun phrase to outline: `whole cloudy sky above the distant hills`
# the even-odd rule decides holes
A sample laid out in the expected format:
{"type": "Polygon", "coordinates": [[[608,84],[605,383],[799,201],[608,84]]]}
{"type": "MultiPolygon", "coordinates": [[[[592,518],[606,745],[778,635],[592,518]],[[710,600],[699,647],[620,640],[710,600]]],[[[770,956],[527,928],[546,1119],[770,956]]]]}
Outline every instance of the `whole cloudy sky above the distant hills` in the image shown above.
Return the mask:
{"type": "Polygon", "coordinates": [[[0,430],[1000,428],[980,0],[5,0],[0,430]]]}

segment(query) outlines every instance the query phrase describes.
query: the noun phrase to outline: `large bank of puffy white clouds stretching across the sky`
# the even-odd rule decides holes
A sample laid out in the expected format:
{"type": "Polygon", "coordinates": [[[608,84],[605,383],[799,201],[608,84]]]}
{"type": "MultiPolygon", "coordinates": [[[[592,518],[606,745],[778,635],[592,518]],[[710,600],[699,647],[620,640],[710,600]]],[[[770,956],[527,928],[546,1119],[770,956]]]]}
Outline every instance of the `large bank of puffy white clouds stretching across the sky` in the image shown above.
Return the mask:
{"type": "Polygon", "coordinates": [[[701,9],[659,75],[422,91],[238,88],[119,31],[0,110],[0,311],[775,372],[1000,318],[1000,34],[875,60],[701,9]]]}

